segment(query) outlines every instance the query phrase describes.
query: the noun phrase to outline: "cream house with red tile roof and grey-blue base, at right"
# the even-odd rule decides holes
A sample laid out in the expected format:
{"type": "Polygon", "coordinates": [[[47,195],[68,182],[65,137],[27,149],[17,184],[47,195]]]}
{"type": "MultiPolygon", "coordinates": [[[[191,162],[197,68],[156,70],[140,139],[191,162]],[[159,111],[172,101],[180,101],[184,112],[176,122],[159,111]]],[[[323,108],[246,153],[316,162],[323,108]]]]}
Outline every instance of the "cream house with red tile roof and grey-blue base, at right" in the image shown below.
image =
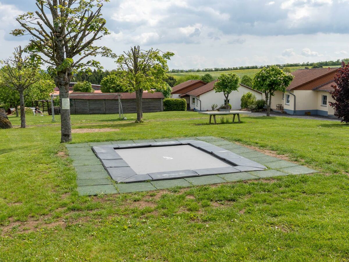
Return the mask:
{"type": "Polygon", "coordinates": [[[286,93],[275,92],[272,97],[272,109],[278,104],[291,115],[334,116],[330,91],[334,89],[334,77],[339,68],[299,69],[292,72],[294,79],[287,87],[286,93]]]}

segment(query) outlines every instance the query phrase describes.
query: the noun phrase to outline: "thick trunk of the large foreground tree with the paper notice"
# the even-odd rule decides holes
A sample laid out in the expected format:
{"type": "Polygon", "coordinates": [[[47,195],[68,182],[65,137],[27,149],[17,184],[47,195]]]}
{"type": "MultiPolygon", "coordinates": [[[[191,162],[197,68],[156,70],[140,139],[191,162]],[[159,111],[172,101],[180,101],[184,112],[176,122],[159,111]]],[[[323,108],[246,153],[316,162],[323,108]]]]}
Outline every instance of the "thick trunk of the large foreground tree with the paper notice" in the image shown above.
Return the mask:
{"type": "Polygon", "coordinates": [[[72,124],[70,122],[70,109],[62,109],[62,99],[69,98],[69,77],[67,73],[59,72],[56,84],[59,88],[60,115],[61,115],[61,143],[72,141],[72,124]]]}

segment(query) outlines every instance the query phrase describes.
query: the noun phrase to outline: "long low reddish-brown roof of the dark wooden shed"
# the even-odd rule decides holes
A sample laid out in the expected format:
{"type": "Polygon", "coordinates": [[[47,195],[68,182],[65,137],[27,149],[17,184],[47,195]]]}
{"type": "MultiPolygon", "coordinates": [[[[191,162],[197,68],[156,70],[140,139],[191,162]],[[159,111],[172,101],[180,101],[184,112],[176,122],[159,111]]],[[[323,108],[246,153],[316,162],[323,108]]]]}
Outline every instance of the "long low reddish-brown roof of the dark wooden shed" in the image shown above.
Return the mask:
{"type": "MultiPolygon", "coordinates": [[[[71,99],[118,99],[118,94],[121,94],[121,99],[136,99],[136,93],[77,93],[73,92],[69,96],[71,99]]],[[[142,95],[143,99],[160,99],[164,98],[161,92],[144,92],[142,95]]]]}

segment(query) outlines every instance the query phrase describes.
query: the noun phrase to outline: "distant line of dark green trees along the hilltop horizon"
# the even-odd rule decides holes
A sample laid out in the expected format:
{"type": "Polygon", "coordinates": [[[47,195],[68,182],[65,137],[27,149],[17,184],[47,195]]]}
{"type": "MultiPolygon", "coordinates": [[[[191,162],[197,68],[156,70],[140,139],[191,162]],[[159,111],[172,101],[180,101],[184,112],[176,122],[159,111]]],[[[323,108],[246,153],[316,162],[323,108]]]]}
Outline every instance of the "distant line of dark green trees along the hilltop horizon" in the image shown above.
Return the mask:
{"type": "MultiPolygon", "coordinates": [[[[336,61],[320,61],[318,63],[314,62],[303,62],[303,63],[287,63],[287,64],[275,64],[278,67],[290,67],[290,66],[307,66],[312,67],[314,64],[319,64],[322,66],[336,66],[341,65],[341,62],[349,62],[349,58],[338,59],[336,61]]],[[[231,71],[231,70],[243,70],[243,69],[259,69],[263,67],[270,67],[272,65],[254,65],[254,66],[236,66],[236,67],[215,67],[215,68],[203,68],[203,69],[171,69],[169,73],[193,73],[193,72],[216,72],[216,71],[231,71]]]]}

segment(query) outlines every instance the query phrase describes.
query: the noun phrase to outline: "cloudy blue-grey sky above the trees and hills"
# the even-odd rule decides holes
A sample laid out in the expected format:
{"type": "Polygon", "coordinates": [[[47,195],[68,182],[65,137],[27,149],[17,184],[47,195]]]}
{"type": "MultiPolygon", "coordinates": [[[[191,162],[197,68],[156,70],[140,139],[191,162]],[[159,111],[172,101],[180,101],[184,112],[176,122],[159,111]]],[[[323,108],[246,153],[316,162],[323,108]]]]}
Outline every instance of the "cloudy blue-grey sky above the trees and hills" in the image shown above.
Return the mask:
{"type": "MultiPolygon", "coordinates": [[[[0,0],[0,59],[27,43],[9,32],[34,2],[0,0]]],[[[169,67],[183,69],[336,60],[349,57],[348,13],[349,0],[111,0],[101,42],[172,51],[169,67]]]]}

